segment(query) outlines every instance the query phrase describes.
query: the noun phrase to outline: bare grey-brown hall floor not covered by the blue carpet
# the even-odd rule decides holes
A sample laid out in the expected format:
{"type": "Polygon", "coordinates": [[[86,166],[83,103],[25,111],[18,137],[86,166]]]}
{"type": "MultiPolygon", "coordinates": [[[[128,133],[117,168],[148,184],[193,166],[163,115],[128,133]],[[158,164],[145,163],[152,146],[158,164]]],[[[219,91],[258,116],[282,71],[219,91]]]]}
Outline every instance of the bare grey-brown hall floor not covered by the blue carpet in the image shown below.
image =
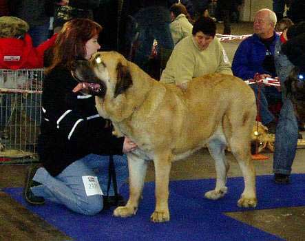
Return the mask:
{"type": "MultiPolygon", "coordinates": [[[[219,32],[221,29],[222,25],[218,24],[219,32]]],[[[250,34],[251,32],[251,23],[233,24],[233,34],[250,34]]],[[[233,58],[239,42],[224,43],[229,59],[233,58]]],[[[273,154],[266,152],[264,155],[269,159],[255,160],[257,175],[272,174],[273,154]]],[[[305,149],[297,149],[293,173],[305,173],[304,156],[305,149]]],[[[231,163],[229,177],[242,176],[233,156],[227,153],[227,158],[231,163]]],[[[0,165],[0,240],[70,240],[64,233],[56,230],[1,191],[4,187],[23,187],[27,167],[28,165],[0,165]]],[[[171,180],[199,178],[215,178],[214,163],[207,149],[202,149],[172,165],[171,180]]],[[[152,163],[149,165],[147,174],[147,181],[149,180],[154,180],[152,163]]],[[[198,195],[202,194],[198,193],[198,195]]],[[[305,195],[305,192],[300,195],[305,195]]],[[[227,215],[285,240],[305,240],[305,207],[244,211],[227,213],[227,215]]]]}

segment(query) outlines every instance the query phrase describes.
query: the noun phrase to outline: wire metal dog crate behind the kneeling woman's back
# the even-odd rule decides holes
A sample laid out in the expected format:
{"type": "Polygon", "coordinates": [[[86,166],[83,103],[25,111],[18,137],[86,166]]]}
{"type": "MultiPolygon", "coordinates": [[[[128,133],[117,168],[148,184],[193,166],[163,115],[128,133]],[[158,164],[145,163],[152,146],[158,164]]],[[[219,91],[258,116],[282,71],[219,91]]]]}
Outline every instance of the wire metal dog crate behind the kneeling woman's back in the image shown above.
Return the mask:
{"type": "Polygon", "coordinates": [[[0,69],[0,158],[36,159],[43,69],[0,69]]]}

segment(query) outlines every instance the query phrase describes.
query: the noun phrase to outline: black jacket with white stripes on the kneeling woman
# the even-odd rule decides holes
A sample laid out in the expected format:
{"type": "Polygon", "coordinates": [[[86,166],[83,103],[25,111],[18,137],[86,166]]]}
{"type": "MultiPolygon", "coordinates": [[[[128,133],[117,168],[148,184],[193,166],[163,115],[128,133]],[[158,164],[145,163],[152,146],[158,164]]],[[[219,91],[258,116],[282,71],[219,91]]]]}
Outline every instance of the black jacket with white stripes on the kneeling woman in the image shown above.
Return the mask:
{"type": "Polygon", "coordinates": [[[63,67],[54,68],[43,82],[38,152],[52,176],[88,154],[123,154],[124,138],[113,136],[109,121],[98,116],[94,96],[72,92],[76,84],[63,67]]]}

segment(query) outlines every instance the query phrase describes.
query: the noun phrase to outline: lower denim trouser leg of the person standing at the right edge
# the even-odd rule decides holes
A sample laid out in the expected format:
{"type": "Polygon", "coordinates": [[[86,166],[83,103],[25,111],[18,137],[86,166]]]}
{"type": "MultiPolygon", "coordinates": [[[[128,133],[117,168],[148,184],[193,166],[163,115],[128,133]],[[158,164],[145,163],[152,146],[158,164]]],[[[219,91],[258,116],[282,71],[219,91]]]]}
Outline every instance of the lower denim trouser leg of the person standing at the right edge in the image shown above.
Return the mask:
{"type": "Polygon", "coordinates": [[[297,151],[297,134],[297,118],[293,104],[289,98],[286,98],[275,132],[275,151],[273,154],[273,172],[275,174],[291,174],[291,166],[297,151]]]}

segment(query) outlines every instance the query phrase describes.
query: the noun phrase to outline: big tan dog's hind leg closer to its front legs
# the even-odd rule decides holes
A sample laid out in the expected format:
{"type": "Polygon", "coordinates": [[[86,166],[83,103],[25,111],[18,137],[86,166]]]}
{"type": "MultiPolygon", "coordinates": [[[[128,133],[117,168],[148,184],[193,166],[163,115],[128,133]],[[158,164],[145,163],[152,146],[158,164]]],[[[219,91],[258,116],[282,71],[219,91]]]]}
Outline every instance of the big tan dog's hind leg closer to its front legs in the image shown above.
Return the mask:
{"type": "Polygon", "coordinates": [[[226,182],[229,163],[227,163],[226,156],[224,155],[225,147],[226,144],[220,139],[213,139],[209,142],[209,152],[215,160],[217,179],[215,189],[207,191],[204,194],[206,198],[216,200],[222,198],[227,193],[226,182]]]}

